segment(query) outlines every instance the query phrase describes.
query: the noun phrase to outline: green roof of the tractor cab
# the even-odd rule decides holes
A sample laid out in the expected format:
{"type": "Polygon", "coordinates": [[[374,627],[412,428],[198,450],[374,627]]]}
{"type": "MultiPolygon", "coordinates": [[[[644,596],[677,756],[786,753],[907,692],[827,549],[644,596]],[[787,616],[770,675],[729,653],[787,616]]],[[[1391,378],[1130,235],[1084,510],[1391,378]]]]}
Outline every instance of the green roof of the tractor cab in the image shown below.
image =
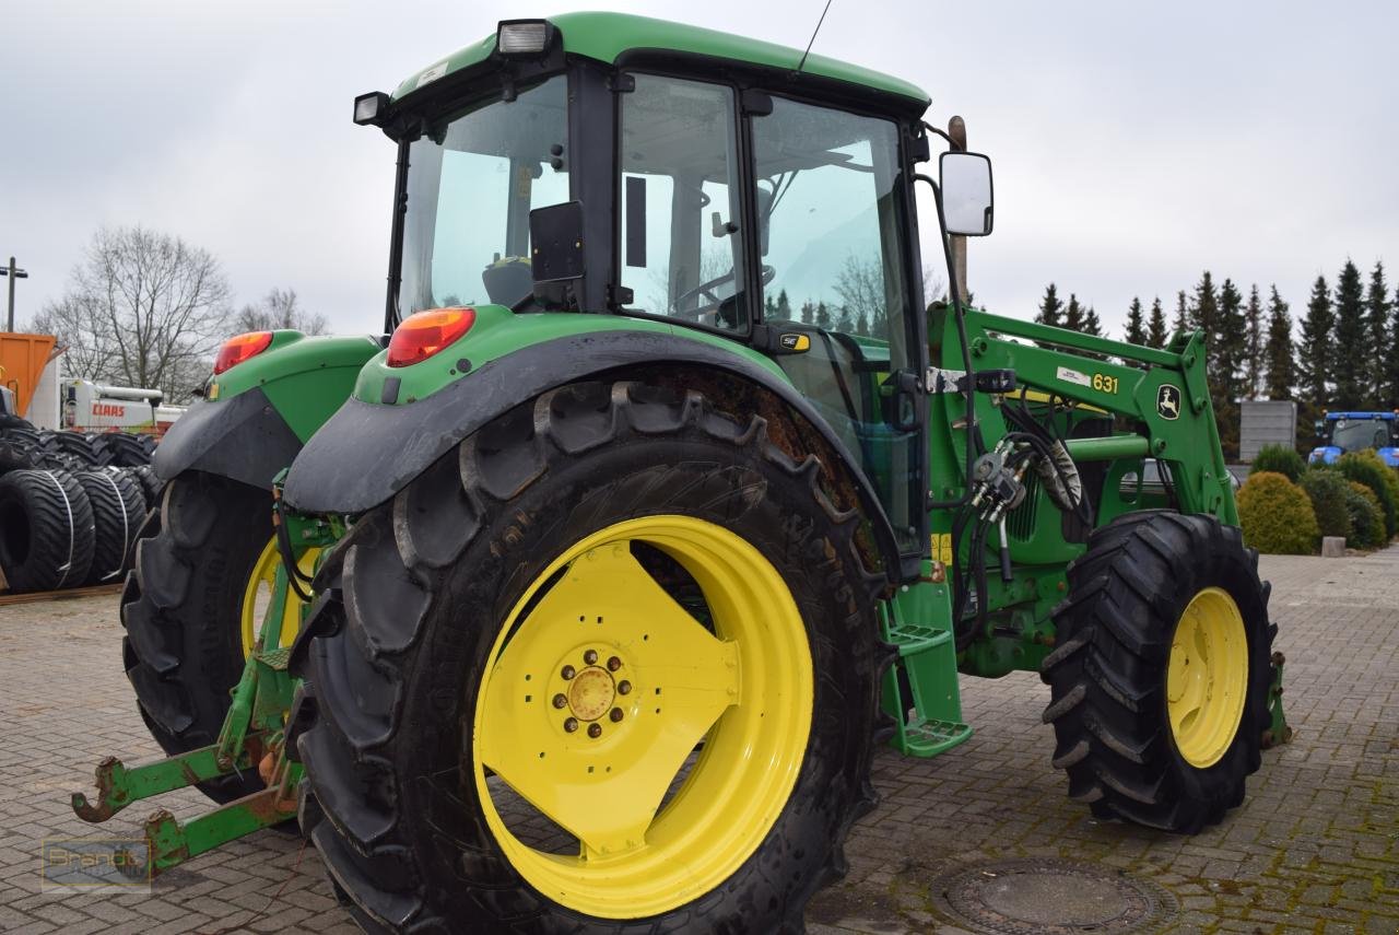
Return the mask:
{"type": "MultiPolygon", "coordinates": [[[[548,22],[562,36],[565,53],[596,59],[607,64],[614,64],[625,52],[641,49],[702,55],[786,71],[795,71],[802,60],[800,49],[625,13],[564,13],[550,17],[548,22]]],[[[393,92],[393,99],[400,99],[431,81],[478,64],[488,59],[494,50],[495,34],[492,32],[480,42],[459,49],[446,59],[410,76],[393,92]]],[[[921,106],[929,104],[922,88],[909,81],[823,55],[809,55],[802,71],[891,94],[921,106]]]]}

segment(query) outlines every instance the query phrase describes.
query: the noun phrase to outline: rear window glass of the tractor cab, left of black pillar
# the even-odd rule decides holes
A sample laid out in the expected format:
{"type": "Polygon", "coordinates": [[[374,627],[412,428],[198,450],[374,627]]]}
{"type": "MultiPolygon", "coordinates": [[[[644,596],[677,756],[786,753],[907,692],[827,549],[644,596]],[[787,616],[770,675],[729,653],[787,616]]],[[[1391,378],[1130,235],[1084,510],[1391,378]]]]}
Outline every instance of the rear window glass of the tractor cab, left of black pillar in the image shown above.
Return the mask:
{"type": "Polygon", "coordinates": [[[564,76],[457,112],[409,147],[399,312],[533,290],[529,213],[568,200],[564,76]]]}

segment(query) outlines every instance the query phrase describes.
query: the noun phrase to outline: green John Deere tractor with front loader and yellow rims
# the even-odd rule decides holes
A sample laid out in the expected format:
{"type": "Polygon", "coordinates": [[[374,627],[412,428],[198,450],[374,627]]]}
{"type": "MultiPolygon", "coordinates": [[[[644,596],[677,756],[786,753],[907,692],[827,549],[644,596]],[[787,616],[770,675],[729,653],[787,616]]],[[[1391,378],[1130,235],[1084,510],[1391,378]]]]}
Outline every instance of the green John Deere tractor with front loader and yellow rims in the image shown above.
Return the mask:
{"type": "Polygon", "coordinates": [[[877,746],[1014,670],[1095,815],[1240,805],[1281,670],[1202,336],[965,308],[953,262],[926,305],[922,238],[992,228],[928,105],[592,13],[358,98],[383,340],[225,346],[122,607],[171,757],[78,813],[221,802],[157,810],[151,872],[299,819],[371,929],[800,931],[877,746]]]}

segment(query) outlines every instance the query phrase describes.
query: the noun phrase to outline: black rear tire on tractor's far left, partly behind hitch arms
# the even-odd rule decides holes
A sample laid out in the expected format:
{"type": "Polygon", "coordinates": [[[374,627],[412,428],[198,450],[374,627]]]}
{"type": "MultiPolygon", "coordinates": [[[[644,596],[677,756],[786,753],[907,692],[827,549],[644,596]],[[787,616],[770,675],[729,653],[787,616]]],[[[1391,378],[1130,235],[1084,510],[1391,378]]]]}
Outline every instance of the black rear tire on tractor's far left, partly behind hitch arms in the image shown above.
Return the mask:
{"type": "MultiPolygon", "coordinates": [[[[242,605],[271,537],[271,494],[214,474],[172,480],[136,543],[122,596],[126,675],[168,754],[218,739],[243,670],[242,605]]],[[[263,788],[257,770],[200,784],[217,802],[263,788]]]]}

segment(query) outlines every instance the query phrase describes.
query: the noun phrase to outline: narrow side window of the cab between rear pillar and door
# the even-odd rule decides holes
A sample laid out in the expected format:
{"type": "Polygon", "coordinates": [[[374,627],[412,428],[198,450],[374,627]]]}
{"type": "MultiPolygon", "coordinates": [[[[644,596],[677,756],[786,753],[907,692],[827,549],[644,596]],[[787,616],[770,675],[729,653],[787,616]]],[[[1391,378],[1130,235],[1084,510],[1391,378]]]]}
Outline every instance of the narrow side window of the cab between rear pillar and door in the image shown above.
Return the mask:
{"type": "Polygon", "coordinates": [[[628,311],[747,330],[733,91],[637,74],[621,104],[628,311]]]}

